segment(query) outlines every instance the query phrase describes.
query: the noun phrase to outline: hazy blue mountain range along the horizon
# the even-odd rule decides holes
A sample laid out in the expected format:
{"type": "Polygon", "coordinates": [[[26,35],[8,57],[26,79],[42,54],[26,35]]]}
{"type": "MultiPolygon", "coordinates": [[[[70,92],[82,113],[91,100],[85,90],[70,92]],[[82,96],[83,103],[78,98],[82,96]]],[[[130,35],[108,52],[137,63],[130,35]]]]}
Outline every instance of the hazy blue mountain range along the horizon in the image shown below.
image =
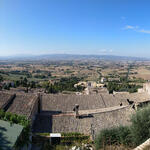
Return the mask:
{"type": "Polygon", "coordinates": [[[18,55],[0,57],[0,60],[126,60],[126,61],[150,61],[149,58],[114,56],[114,55],[79,55],[79,54],[45,54],[45,55],[18,55]]]}

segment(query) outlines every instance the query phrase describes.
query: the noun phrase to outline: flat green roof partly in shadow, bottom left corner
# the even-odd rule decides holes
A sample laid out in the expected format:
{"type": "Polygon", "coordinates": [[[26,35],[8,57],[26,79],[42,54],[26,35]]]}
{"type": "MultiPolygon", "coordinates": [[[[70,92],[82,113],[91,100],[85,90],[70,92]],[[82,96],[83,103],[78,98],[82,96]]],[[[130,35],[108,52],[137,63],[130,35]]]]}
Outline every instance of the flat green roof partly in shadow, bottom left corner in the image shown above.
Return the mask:
{"type": "Polygon", "coordinates": [[[22,130],[21,125],[0,120],[0,149],[12,150],[22,130]]]}

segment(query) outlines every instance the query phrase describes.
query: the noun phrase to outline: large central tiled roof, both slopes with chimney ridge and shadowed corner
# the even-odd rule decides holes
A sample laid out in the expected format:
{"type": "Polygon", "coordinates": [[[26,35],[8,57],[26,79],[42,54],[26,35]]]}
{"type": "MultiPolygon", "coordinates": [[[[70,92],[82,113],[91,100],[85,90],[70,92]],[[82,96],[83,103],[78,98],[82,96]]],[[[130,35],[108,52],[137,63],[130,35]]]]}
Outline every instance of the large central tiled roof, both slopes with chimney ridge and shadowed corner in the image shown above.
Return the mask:
{"type": "Polygon", "coordinates": [[[127,102],[130,96],[43,94],[34,132],[81,132],[95,137],[104,128],[129,125],[130,116],[135,112],[127,102]],[[77,104],[79,115],[76,117],[73,108],[77,104]]]}

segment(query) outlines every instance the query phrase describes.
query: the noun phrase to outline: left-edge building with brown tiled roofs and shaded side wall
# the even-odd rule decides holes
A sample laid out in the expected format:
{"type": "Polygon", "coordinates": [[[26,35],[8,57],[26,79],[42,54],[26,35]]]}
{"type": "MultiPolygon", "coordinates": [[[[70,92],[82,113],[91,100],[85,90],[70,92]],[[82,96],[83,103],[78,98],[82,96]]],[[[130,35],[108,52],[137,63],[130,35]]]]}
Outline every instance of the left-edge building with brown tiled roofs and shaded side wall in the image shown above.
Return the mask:
{"type": "Polygon", "coordinates": [[[32,124],[39,112],[39,95],[0,92],[0,109],[24,115],[32,124]]]}

